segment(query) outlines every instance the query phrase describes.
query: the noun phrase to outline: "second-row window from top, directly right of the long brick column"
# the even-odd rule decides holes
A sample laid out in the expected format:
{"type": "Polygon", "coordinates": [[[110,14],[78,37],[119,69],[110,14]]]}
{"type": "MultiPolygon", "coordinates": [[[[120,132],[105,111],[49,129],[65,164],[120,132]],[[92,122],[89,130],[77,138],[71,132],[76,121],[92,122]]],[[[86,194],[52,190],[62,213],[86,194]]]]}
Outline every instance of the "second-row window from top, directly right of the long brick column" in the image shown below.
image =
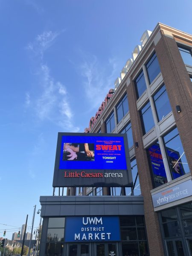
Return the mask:
{"type": "Polygon", "coordinates": [[[151,111],[150,102],[148,102],[140,111],[143,134],[146,134],[151,128],[154,127],[154,119],[151,111]]]}

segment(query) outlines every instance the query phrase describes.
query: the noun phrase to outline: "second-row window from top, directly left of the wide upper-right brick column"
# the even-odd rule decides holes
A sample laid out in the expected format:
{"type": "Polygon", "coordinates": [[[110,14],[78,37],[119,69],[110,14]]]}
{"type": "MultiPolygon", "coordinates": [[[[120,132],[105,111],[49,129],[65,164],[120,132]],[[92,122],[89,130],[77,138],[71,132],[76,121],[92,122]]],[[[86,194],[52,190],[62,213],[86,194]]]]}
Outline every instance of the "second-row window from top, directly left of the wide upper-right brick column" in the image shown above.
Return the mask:
{"type": "Polygon", "coordinates": [[[165,85],[163,85],[163,87],[161,87],[160,90],[155,93],[155,95],[153,96],[153,100],[156,109],[157,119],[159,122],[172,111],[165,85]]]}

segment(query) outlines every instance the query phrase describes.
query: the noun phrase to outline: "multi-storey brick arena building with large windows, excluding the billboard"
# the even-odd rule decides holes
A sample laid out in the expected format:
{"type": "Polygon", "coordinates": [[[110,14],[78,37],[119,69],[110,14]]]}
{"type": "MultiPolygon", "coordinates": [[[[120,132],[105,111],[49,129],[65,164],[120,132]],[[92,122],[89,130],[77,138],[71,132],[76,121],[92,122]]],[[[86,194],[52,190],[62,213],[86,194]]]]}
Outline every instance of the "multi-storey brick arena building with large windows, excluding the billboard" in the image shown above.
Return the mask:
{"type": "MultiPolygon", "coordinates": [[[[90,243],[82,255],[192,255],[192,35],[161,23],[145,31],[85,132],[127,133],[134,186],[69,188],[67,199],[59,189],[55,199],[41,197],[41,255],[51,255],[50,216],[93,214],[118,215],[121,241],[103,250],[90,243]],[[96,201],[105,212],[94,208],[96,201]]],[[[79,256],[81,245],[64,244],[63,253],[79,256]]]]}

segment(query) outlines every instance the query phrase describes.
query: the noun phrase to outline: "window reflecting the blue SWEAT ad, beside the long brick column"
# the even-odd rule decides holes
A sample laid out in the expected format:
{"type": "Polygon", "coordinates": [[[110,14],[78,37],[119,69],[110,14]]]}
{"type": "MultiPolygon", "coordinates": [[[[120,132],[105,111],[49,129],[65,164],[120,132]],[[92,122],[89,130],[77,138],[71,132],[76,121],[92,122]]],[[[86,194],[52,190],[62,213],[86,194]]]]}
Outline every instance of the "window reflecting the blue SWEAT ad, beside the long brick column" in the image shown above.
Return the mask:
{"type": "Polygon", "coordinates": [[[167,183],[167,176],[163,163],[163,157],[158,142],[147,149],[148,159],[151,166],[151,176],[154,188],[167,183]]]}

